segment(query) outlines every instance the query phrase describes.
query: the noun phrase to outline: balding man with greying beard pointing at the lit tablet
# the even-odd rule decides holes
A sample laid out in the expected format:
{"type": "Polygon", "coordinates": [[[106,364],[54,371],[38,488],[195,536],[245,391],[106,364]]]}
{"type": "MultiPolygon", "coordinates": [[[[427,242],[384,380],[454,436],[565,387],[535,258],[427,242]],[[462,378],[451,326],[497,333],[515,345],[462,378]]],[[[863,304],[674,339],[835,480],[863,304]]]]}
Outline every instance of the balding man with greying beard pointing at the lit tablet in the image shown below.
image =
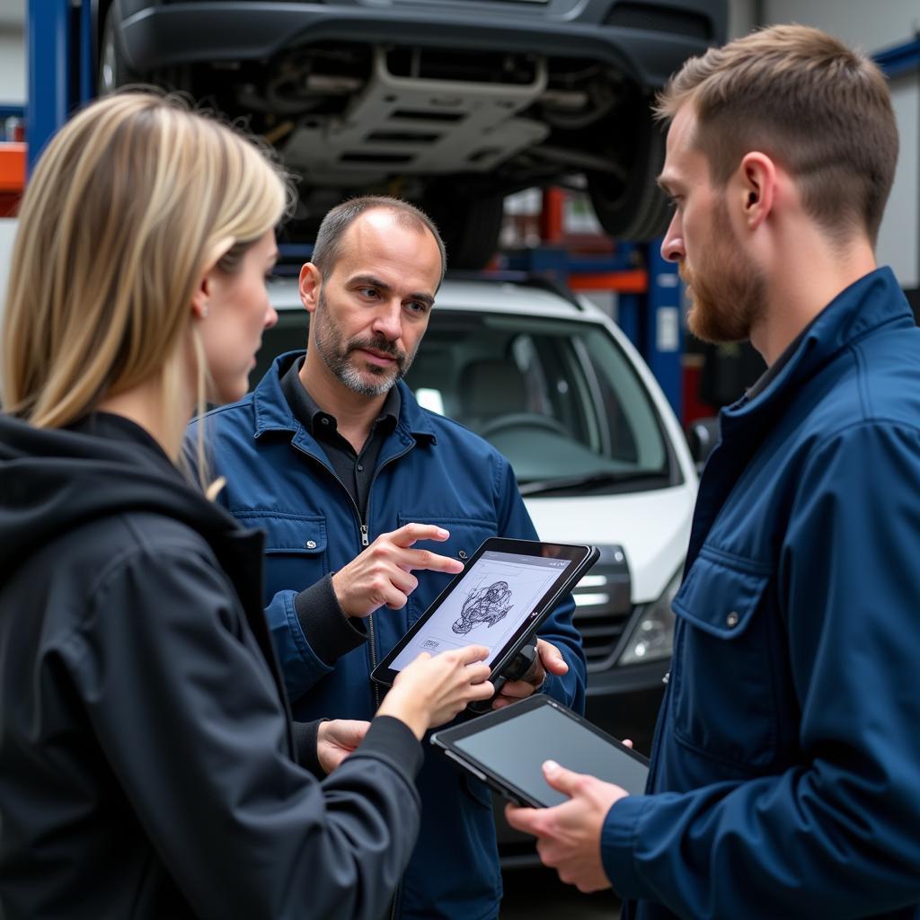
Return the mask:
{"type": "MultiPolygon", "coordinates": [[[[536,538],[508,461],[420,408],[400,379],[444,261],[436,228],[406,202],[339,205],[301,270],[306,353],[282,355],[252,394],[208,417],[221,500],[266,531],[267,615],[298,719],[370,719],[375,664],[460,560],[490,536],[536,538]]],[[[573,609],[570,596],[558,605],[535,666],[493,705],[540,688],[583,707],[573,609]]],[[[418,786],[420,837],[394,915],[494,920],[501,880],[488,788],[434,753],[418,786]]]]}

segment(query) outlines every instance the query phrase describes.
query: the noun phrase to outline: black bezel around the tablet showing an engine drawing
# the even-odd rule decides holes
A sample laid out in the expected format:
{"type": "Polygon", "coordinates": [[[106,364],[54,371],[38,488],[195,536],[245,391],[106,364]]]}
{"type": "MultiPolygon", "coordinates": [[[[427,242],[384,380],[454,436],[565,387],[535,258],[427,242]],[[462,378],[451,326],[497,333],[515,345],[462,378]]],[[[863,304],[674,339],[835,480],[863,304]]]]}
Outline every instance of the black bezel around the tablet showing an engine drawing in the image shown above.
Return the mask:
{"type": "MultiPolygon", "coordinates": [[[[504,647],[496,655],[492,662],[492,670],[489,679],[497,677],[509,664],[514,660],[514,656],[520,651],[528,638],[531,638],[535,631],[543,624],[546,617],[552,613],[553,608],[558,604],[564,594],[569,592],[575,584],[581,579],[581,576],[590,569],[599,556],[595,546],[579,546],[570,543],[546,543],[542,540],[512,540],[508,537],[490,536],[488,540],[482,543],[477,551],[466,561],[464,569],[447,584],[433,601],[433,603],[420,615],[419,619],[409,627],[408,632],[399,639],[397,644],[389,650],[385,657],[377,664],[371,673],[371,679],[376,684],[383,686],[392,686],[397,678],[398,671],[393,671],[390,664],[396,660],[399,653],[408,645],[408,642],[415,637],[417,633],[425,626],[425,623],[431,619],[438,608],[443,604],[457,584],[465,577],[469,569],[476,565],[483,553],[509,553],[516,556],[533,556],[533,557],[550,557],[550,558],[568,558],[574,565],[559,572],[559,577],[550,586],[549,590],[540,600],[536,610],[536,615],[528,616],[518,627],[513,637],[505,643],[504,647]]],[[[470,645],[474,645],[470,642],[470,645]]]]}

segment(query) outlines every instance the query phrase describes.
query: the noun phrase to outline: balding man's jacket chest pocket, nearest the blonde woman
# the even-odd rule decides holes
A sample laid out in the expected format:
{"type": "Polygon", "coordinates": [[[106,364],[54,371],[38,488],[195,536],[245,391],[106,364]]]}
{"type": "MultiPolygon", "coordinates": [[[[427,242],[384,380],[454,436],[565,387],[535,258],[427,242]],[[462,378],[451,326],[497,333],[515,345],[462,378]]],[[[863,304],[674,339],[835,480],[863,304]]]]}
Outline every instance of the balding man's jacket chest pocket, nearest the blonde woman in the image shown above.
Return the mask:
{"type": "Polygon", "coordinates": [[[236,520],[265,532],[265,596],[303,591],[328,572],[326,518],[278,512],[236,513],[236,520]]]}

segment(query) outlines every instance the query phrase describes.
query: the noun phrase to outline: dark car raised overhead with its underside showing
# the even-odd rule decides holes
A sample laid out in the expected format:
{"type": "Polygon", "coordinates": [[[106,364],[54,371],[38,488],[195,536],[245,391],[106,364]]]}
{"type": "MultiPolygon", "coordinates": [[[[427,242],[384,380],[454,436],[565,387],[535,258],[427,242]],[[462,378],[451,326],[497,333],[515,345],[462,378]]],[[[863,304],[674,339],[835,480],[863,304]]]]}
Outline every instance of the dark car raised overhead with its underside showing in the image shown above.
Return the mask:
{"type": "Polygon", "coordinates": [[[385,192],[454,268],[497,247],[506,195],[585,186],[604,232],[663,233],[652,93],[725,39],[727,0],[99,0],[99,89],[178,88],[265,137],[303,239],[385,192]]]}

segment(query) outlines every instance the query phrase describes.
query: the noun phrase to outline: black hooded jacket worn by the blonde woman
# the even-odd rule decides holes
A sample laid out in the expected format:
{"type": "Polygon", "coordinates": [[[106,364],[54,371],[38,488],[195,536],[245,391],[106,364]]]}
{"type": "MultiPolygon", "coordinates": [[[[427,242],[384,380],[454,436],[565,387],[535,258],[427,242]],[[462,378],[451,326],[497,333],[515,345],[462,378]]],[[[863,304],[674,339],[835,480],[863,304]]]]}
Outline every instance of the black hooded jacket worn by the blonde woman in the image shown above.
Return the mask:
{"type": "Polygon", "coordinates": [[[0,916],[374,920],[420,746],[296,762],[261,536],[141,428],[0,415],[0,916]]]}

